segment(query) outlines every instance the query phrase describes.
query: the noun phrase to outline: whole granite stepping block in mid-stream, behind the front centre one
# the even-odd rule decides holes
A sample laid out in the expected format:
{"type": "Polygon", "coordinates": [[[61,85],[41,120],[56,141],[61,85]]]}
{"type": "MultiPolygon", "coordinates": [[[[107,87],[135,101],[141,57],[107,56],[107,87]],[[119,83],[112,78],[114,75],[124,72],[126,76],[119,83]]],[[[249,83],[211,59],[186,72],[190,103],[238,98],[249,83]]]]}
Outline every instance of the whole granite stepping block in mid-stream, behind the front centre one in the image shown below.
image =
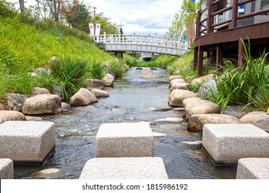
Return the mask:
{"type": "Polygon", "coordinates": [[[150,123],[102,124],[97,132],[96,156],[154,156],[154,136],[150,123]]]}

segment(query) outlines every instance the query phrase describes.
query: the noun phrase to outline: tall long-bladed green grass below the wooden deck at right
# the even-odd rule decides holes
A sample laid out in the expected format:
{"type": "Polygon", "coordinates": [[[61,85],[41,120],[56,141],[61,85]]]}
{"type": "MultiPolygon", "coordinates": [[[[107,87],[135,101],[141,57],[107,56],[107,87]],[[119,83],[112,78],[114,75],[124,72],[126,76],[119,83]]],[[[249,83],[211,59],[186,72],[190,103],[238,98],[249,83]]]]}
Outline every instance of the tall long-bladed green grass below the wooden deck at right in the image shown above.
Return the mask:
{"type": "Polygon", "coordinates": [[[268,53],[253,59],[250,43],[243,42],[245,65],[236,68],[230,60],[225,60],[226,70],[216,79],[217,90],[210,90],[210,100],[225,111],[228,105],[243,105],[250,110],[264,110],[269,106],[269,73],[266,67],[268,53]]]}

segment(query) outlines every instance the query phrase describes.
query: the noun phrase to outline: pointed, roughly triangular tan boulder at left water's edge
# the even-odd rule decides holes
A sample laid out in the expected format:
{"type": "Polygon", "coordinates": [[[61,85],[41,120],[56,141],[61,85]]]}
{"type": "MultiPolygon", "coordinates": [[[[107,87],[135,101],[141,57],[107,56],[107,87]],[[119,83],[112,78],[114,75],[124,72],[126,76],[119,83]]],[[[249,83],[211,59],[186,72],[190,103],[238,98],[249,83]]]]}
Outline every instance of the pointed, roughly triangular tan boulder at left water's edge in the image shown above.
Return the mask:
{"type": "Polygon", "coordinates": [[[79,89],[79,91],[74,94],[69,101],[72,106],[86,106],[97,102],[98,100],[94,94],[86,88],[79,89]]]}

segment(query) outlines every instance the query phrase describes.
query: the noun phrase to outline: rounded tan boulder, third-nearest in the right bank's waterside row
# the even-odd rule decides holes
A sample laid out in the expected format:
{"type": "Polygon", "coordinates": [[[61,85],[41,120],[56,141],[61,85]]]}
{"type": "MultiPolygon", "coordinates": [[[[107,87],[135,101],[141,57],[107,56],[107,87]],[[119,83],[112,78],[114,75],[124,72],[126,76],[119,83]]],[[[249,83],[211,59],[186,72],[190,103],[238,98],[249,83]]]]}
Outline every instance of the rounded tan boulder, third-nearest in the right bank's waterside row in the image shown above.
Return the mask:
{"type": "Polygon", "coordinates": [[[182,108],[183,100],[191,97],[197,97],[197,94],[189,90],[175,89],[170,93],[168,103],[172,107],[182,108]]]}

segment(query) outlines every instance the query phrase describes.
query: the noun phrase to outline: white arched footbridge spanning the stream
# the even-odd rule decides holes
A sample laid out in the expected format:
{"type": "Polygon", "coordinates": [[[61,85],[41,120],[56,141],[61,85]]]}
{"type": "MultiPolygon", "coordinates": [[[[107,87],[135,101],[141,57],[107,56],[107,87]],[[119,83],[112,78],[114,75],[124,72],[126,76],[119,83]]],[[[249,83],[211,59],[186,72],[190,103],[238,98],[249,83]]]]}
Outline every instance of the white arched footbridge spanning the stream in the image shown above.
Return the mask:
{"type": "Polygon", "coordinates": [[[152,37],[126,34],[101,34],[95,37],[95,42],[103,46],[107,52],[148,52],[181,56],[190,48],[190,42],[166,37],[152,37]]]}

